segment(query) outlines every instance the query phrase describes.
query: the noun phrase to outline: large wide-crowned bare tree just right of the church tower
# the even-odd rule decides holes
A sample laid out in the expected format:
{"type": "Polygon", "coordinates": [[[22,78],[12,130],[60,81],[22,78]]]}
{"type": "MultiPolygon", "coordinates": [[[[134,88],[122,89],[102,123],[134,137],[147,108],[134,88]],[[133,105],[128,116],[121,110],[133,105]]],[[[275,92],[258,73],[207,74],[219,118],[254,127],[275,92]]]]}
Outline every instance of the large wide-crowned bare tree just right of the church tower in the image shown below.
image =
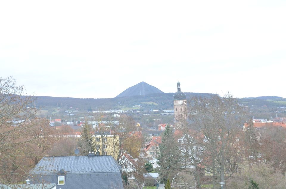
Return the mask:
{"type": "MultiPolygon", "coordinates": [[[[213,173],[214,184],[225,182],[227,158],[245,120],[244,111],[231,96],[194,97],[188,104],[190,128],[204,137],[196,143],[204,148],[201,163],[213,173]],[[216,175],[220,180],[216,180],[216,175]]],[[[194,138],[195,139],[195,138],[194,138]]]]}

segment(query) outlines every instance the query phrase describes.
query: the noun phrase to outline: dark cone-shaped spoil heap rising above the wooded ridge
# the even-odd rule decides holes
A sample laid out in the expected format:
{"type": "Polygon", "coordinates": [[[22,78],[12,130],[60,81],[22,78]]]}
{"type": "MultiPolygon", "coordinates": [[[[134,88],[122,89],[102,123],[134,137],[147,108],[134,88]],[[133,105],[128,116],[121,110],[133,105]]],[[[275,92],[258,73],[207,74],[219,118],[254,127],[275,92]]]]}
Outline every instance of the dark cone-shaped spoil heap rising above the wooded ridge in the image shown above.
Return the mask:
{"type": "Polygon", "coordinates": [[[164,93],[164,92],[142,81],[139,84],[129,87],[128,89],[126,89],[125,91],[117,95],[115,98],[131,97],[131,96],[136,96],[136,95],[149,95],[149,94],[156,94],[156,93],[164,93]]]}

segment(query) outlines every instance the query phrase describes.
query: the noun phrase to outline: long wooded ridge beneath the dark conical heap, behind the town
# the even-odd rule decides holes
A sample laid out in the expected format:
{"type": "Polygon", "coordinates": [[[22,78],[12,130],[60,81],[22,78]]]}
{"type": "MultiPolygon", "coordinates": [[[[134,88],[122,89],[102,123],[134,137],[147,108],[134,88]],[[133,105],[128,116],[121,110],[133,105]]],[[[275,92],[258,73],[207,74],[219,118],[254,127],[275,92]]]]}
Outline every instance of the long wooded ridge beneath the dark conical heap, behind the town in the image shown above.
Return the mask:
{"type": "MultiPolygon", "coordinates": [[[[214,94],[210,93],[189,93],[186,92],[186,98],[192,96],[211,97],[214,94]]],[[[150,109],[172,109],[173,96],[175,93],[155,93],[149,95],[137,95],[131,97],[117,98],[70,98],[70,97],[47,97],[35,96],[35,106],[40,109],[62,108],[69,109],[70,107],[79,108],[81,111],[88,110],[114,110],[114,109],[138,109],[135,105],[141,105],[140,110],[150,109]]]]}

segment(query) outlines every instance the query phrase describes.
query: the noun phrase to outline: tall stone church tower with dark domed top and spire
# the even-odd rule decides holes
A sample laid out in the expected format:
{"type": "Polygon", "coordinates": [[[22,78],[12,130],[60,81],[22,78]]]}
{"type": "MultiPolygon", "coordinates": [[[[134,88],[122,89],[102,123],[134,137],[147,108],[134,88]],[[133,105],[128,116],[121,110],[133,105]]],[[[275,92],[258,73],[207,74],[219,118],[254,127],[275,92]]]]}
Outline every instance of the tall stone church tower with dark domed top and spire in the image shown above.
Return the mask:
{"type": "Polygon", "coordinates": [[[175,123],[179,122],[180,117],[186,119],[186,95],[181,92],[181,84],[178,81],[177,83],[177,92],[174,95],[174,121],[175,123]]]}

